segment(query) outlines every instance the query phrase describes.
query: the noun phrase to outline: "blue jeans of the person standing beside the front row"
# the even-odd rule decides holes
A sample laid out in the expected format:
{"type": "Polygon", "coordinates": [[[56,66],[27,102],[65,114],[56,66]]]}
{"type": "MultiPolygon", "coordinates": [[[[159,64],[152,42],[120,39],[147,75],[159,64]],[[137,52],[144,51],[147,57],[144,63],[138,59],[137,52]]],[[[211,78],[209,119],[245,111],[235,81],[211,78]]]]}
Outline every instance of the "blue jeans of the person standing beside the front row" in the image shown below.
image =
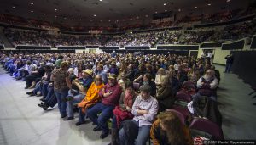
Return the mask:
{"type": "Polygon", "coordinates": [[[59,111],[60,111],[60,114],[61,114],[61,117],[64,117],[67,115],[67,103],[63,101],[64,98],[67,97],[67,93],[68,93],[68,90],[63,90],[63,91],[56,91],[55,90],[55,95],[56,95],[56,98],[57,98],[57,102],[58,102],[58,108],[59,108],[59,111]]]}

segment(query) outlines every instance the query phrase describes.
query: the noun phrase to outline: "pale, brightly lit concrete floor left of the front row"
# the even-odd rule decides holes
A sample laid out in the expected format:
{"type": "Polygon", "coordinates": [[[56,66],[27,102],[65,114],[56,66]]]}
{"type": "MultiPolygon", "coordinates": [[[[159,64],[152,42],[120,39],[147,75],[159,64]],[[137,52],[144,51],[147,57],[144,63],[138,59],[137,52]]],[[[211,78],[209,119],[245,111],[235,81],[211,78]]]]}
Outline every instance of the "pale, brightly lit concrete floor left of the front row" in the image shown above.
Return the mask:
{"type": "MultiPolygon", "coordinates": [[[[0,145],[107,145],[91,123],[76,126],[75,120],[61,120],[58,109],[44,111],[38,97],[28,97],[25,81],[15,81],[0,69],[0,145]]],[[[78,114],[76,114],[78,115],[78,114]]]]}

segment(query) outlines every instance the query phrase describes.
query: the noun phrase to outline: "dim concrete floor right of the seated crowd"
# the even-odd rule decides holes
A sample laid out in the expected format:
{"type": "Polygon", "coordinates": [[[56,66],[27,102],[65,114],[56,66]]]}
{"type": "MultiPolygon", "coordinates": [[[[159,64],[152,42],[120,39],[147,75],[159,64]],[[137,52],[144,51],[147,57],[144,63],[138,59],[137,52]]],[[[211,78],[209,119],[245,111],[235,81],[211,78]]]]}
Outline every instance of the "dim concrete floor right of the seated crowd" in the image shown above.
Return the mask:
{"type": "Polygon", "coordinates": [[[216,67],[221,73],[218,89],[218,108],[223,116],[224,137],[226,139],[256,139],[256,95],[251,86],[245,84],[235,74],[224,74],[224,66],[216,67]]]}

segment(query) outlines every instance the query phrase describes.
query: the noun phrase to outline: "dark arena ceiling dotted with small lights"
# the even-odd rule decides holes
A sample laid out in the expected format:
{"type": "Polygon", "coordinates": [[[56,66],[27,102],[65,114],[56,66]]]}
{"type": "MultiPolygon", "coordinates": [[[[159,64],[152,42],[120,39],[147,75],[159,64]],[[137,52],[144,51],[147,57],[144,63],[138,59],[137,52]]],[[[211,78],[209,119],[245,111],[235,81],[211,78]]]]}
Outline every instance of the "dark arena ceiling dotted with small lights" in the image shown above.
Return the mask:
{"type": "MultiPolygon", "coordinates": [[[[150,20],[152,14],[240,7],[249,0],[1,0],[0,12],[50,22],[91,25],[150,20]]],[[[214,10],[213,10],[214,11],[214,10]]]]}

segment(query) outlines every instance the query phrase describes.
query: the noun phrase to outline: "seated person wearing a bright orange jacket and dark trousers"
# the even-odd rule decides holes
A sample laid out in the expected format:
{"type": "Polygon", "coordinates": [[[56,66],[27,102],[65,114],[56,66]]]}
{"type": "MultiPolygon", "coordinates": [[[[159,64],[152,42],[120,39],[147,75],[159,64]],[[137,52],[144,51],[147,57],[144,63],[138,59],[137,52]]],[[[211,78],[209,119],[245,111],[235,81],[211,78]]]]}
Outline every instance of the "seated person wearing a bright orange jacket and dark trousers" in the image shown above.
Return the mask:
{"type": "Polygon", "coordinates": [[[79,122],[77,122],[76,125],[84,124],[85,123],[84,117],[85,117],[86,110],[92,107],[94,104],[101,101],[99,92],[103,86],[104,84],[102,81],[102,77],[100,75],[96,75],[95,81],[90,85],[84,99],[78,104],[78,107],[80,108],[79,122]]]}

